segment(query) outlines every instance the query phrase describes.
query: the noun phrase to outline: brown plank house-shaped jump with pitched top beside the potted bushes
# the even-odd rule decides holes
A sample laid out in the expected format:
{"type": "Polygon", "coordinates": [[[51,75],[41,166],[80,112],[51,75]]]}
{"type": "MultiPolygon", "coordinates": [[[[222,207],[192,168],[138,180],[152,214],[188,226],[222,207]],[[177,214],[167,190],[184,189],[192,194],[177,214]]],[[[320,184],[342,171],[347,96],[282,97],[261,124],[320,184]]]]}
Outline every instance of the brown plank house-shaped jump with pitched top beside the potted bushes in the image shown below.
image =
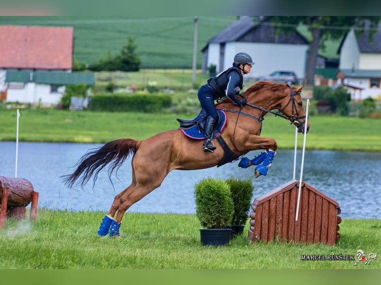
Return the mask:
{"type": "Polygon", "coordinates": [[[248,232],[251,241],[278,238],[281,242],[335,245],[340,239],[339,204],[302,181],[295,221],[298,190],[299,181],[291,180],[254,200],[248,232]]]}

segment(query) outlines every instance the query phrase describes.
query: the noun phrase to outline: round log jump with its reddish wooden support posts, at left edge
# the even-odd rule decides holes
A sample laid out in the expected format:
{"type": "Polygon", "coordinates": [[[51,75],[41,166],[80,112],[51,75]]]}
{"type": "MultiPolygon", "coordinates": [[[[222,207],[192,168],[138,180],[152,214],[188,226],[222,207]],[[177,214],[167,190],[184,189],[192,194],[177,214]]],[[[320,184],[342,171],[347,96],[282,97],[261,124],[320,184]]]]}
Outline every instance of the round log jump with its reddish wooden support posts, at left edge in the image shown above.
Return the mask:
{"type": "Polygon", "coordinates": [[[37,216],[38,192],[24,178],[0,176],[0,228],[4,226],[6,216],[16,219],[25,218],[25,207],[31,204],[30,219],[37,216]]]}

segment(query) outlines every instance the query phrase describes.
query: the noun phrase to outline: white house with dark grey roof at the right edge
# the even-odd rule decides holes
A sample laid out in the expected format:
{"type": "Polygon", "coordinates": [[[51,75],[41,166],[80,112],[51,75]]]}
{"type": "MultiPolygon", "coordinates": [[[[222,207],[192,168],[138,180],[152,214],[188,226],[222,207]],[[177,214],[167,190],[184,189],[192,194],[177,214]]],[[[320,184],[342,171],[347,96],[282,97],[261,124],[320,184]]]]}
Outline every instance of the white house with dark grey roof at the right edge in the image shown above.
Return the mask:
{"type": "Polygon", "coordinates": [[[347,87],[352,99],[381,99],[381,22],[373,38],[369,30],[357,38],[351,29],[341,42],[338,83],[347,87]]]}

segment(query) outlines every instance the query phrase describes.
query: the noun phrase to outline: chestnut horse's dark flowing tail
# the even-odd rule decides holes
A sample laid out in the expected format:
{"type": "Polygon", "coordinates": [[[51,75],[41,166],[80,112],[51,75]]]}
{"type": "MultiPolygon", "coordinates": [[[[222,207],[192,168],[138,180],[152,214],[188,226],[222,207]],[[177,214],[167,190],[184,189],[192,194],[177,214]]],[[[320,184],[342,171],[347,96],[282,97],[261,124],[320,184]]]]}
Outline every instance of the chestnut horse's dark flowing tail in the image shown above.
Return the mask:
{"type": "MultiPolygon", "coordinates": [[[[108,163],[113,163],[108,167],[108,178],[111,180],[111,173],[122,165],[129,154],[135,154],[140,145],[140,141],[133,139],[118,139],[103,146],[89,150],[77,162],[77,169],[69,175],[64,175],[65,184],[71,188],[77,179],[81,176],[81,186],[85,184],[94,175],[94,183],[100,170],[108,163]]],[[[78,182],[79,184],[79,182],[78,182]]]]}

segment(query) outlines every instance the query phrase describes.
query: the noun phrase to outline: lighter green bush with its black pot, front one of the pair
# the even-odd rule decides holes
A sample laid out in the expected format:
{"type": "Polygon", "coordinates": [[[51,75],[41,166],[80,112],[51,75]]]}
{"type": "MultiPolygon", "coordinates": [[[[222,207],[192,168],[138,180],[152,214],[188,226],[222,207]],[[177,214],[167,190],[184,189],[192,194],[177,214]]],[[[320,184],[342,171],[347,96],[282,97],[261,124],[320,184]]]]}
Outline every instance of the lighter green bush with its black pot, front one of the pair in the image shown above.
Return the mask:
{"type": "Polygon", "coordinates": [[[222,179],[204,178],[194,186],[196,216],[203,226],[200,240],[203,245],[224,245],[230,243],[233,217],[233,201],[230,187],[222,179]]]}

